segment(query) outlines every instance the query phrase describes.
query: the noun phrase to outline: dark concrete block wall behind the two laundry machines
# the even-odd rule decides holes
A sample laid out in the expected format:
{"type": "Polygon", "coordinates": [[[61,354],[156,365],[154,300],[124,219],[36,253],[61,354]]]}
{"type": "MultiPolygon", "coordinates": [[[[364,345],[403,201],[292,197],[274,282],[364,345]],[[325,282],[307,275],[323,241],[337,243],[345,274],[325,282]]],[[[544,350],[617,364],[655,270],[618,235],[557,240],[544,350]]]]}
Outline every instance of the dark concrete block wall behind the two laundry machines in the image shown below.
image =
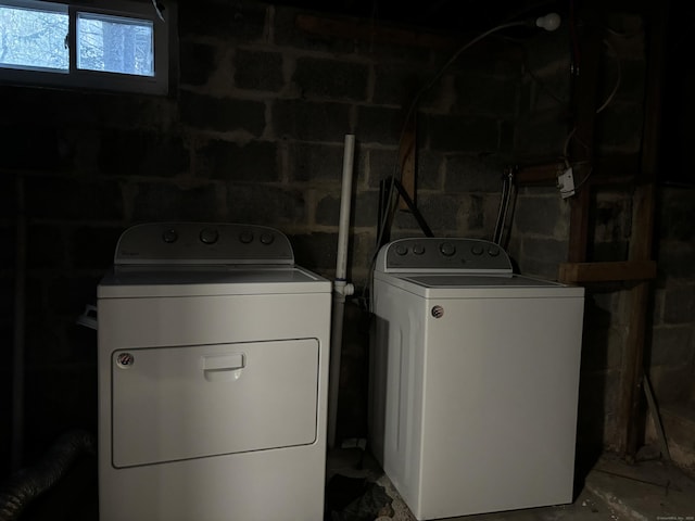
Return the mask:
{"type": "MultiPolygon", "coordinates": [[[[11,100],[0,119],[0,142],[7,144],[0,239],[10,246],[0,249],[0,339],[12,343],[15,183],[22,179],[29,453],[41,452],[67,428],[93,425],[96,335],[75,319],[94,301],[126,227],[150,220],[268,225],[290,237],[299,264],[330,278],[343,139],[354,134],[349,277],[364,284],[379,182],[394,173],[405,107],[453,51],[306,34],[295,23],[302,11],[258,2],[179,3],[180,77],[167,97],[0,87],[2,99],[11,100]]],[[[624,23],[639,27],[631,18],[624,23]]],[[[563,31],[536,35],[521,52],[491,37],[422,96],[417,202],[437,234],[491,238],[504,169],[561,155],[570,124],[567,38],[563,31]]],[[[612,46],[621,53],[623,80],[606,109],[615,117],[602,123],[602,136],[610,136],[602,137],[606,150],[639,147],[641,119],[623,125],[623,117],[642,92],[640,41],[612,46]]],[[[608,93],[616,85],[611,65],[607,60],[608,93]]],[[[597,201],[596,259],[627,251],[629,199],[607,193],[597,201]]],[[[569,203],[555,188],[523,188],[509,241],[520,269],[555,279],[566,259],[568,225],[569,203]]],[[[413,234],[420,234],[415,219],[399,213],[393,238],[413,234]]],[[[680,258],[683,252],[674,245],[662,254],[680,258]]],[[[685,263],[677,266],[692,283],[685,263]]],[[[666,331],[675,329],[679,284],[667,282],[658,293],[664,313],[655,320],[667,342],[673,333],[666,331]]],[[[591,293],[587,305],[580,429],[585,439],[610,446],[624,335],[621,293],[591,293]]],[[[355,326],[362,317],[353,312],[341,384],[355,399],[342,410],[345,421],[358,425],[362,390],[354,385],[364,376],[365,338],[355,326]]],[[[9,368],[0,371],[2,396],[9,397],[9,368]]],[[[0,408],[9,417],[9,398],[0,399],[0,408]]],[[[361,429],[343,432],[359,435],[361,429]]],[[[8,433],[9,427],[0,429],[1,450],[8,433]]]]}

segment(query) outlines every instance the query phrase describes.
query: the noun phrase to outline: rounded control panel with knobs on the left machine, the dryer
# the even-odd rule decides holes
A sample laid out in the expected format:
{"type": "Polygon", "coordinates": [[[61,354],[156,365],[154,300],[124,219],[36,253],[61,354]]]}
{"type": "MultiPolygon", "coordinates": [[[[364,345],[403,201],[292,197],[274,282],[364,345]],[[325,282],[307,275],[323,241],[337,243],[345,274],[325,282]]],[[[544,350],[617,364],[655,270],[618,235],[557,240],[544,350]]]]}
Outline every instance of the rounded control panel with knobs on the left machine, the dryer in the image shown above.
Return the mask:
{"type": "Polygon", "coordinates": [[[121,234],[114,264],[294,264],[289,239],[265,226],[229,223],[148,223],[121,234]]]}

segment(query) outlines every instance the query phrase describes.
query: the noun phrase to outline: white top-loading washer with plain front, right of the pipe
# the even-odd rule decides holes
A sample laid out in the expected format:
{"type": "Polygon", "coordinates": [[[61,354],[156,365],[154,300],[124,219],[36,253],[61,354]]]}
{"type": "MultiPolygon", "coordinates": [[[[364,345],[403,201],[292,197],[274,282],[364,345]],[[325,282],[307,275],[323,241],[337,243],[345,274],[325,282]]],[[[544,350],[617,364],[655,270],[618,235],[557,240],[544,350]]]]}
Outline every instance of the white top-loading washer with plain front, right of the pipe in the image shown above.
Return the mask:
{"type": "Polygon", "coordinates": [[[377,256],[370,445],[418,520],[572,501],[584,293],[497,245],[377,256]]]}

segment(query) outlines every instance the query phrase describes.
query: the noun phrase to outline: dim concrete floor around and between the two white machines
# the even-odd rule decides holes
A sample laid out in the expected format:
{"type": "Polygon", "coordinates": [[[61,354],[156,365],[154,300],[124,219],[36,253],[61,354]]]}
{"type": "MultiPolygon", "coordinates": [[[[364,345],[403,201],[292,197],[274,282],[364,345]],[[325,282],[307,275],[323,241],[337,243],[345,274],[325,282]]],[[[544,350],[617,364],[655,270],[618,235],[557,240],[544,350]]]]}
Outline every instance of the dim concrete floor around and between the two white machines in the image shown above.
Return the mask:
{"type": "MultiPolygon", "coordinates": [[[[379,521],[415,520],[368,454],[357,448],[332,450],[327,479],[334,474],[364,478],[386,488],[393,499],[393,512],[392,517],[378,518],[379,521]]],[[[94,458],[80,458],[53,490],[29,505],[20,521],[98,521],[96,478],[94,458]]],[[[695,521],[695,479],[660,460],[627,465],[615,456],[603,455],[585,472],[580,471],[577,488],[578,496],[571,505],[451,518],[450,521],[695,521]]],[[[230,521],[243,520],[230,518],[230,521]]]]}

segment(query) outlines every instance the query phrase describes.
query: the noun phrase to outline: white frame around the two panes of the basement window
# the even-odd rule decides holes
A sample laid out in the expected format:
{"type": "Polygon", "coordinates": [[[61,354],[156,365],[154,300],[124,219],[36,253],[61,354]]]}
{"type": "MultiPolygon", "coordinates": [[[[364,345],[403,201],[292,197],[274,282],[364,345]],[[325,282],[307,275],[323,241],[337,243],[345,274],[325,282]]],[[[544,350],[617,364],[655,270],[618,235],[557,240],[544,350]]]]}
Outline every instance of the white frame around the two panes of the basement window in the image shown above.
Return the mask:
{"type": "Polygon", "coordinates": [[[0,0],[2,7],[62,11],[67,7],[68,15],[68,71],[45,68],[13,68],[0,66],[0,82],[25,86],[93,89],[110,91],[166,94],[169,87],[169,34],[175,33],[175,10],[167,3],[162,21],[152,2],[128,0],[93,0],[90,3],[72,1],[49,2],[45,0],[0,0]],[[154,37],[154,75],[130,75],[105,71],[77,68],[77,14],[89,13],[105,16],[136,18],[152,23],[154,37]]]}

